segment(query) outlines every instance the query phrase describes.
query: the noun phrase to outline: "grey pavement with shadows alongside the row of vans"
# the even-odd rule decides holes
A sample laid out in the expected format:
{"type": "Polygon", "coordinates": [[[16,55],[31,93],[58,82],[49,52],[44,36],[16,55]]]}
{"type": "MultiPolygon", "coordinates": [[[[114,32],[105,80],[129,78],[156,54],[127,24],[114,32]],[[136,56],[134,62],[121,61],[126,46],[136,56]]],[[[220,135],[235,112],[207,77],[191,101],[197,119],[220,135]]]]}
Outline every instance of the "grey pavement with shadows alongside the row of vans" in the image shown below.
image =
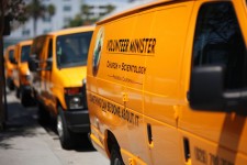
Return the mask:
{"type": "Polygon", "coordinates": [[[7,129],[0,132],[0,165],[108,165],[90,142],[71,151],[60,147],[56,132],[37,122],[37,108],[24,108],[13,91],[8,91],[7,129]]]}

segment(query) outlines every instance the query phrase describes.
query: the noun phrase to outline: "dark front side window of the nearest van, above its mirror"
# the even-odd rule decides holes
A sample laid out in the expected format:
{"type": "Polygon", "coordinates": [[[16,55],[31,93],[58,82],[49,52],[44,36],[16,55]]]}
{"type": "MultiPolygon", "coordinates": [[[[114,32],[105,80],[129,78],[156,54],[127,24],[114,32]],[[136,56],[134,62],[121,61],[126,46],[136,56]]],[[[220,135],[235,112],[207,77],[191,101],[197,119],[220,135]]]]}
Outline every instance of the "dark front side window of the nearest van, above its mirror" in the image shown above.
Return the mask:
{"type": "Polygon", "coordinates": [[[210,2],[200,8],[193,43],[193,66],[225,67],[225,89],[244,87],[246,47],[231,2],[210,2]]]}

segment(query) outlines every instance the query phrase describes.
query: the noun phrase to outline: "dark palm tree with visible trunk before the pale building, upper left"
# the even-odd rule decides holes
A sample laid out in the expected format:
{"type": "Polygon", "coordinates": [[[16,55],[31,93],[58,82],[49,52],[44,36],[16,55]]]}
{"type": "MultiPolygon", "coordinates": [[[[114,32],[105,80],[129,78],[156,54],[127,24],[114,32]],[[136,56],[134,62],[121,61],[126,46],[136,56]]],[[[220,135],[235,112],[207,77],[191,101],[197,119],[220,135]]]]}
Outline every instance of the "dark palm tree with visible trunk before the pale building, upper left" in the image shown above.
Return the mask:
{"type": "Polygon", "coordinates": [[[34,36],[36,35],[37,20],[40,18],[44,18],[46,14],[53,16],[55,11],[56,10],[53,4],[46,7],[41,2],[41,0],[32,0],[32,2],[26,6],[26,16],[33,18],[34,36]]]}

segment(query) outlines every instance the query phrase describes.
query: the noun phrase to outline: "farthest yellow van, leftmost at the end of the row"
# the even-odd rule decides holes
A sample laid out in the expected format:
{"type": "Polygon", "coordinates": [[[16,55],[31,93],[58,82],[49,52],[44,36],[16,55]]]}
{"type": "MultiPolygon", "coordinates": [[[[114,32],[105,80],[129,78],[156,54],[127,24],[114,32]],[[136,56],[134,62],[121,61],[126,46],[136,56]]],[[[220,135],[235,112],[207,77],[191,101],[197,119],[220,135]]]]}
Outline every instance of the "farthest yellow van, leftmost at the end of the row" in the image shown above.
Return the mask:
{"type": "Polygon", "coordinates": [[[14,45],[8,46],[4,53],[4,68],[5,68],[5,79],[7,86],[10,90],[14,90],[13,84],[13,68],[14,64],[14,45]]]}

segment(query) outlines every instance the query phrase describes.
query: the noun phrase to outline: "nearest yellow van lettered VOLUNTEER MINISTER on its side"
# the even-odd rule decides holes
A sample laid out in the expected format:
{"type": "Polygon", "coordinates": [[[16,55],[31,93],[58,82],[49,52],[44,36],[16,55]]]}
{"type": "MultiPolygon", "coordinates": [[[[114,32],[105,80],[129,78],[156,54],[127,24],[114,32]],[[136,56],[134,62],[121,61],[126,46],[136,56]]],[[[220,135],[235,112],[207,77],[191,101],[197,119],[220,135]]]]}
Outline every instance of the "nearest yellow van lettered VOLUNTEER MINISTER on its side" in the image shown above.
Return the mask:
{"type": "Polygon", "coordinates": [[[112,165],[247,164],[246,0],[158,0],[97,23],[93,146],[112,165]]]}

